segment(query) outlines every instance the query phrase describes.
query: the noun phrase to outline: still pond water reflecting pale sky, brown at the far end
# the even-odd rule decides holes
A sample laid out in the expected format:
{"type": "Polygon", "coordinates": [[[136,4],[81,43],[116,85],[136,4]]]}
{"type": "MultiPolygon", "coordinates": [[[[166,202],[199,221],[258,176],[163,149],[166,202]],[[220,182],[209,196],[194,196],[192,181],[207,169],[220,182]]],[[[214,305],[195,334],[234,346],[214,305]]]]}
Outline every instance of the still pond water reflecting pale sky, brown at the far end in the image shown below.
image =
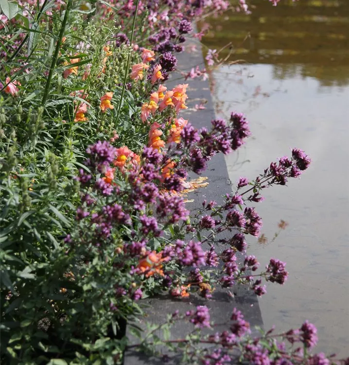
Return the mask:
{"type": "Polygon", "coordinates": [[[217,116],[244,112],[253,137],[227,156],[229,177],[255,178],[290,148],[312,164],[257,205],[266,243],[249,241],[264,266],[287,262],[286,284],[260,299],[265,328],[316,325],[317,349],[349,356],[349,1],[254,0],[252,15],[206,19],[203,43],[225,64],[211,73],[217,116]],[[229,56],[229,57],[228,57],[229,56]],[[244,59],[239,64],[230,61],[244,59]],[[287,228],[273,240],[278,222],[287,228]]]}

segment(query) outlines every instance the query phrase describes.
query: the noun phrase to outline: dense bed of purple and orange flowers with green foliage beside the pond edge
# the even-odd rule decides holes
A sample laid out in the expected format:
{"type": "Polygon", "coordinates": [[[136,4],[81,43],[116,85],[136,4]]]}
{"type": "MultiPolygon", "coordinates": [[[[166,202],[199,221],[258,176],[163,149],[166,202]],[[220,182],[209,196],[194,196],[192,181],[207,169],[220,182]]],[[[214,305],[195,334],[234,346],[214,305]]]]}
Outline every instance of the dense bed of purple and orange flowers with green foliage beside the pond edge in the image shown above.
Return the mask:
{"type": "MultiPolygon", "coordinates": [[[[188,173],[202,173],[215,154],[235,151],[250,135],[236,112],[210,130],[194,128],[180,116],[189,85],[166,86],[192,21],[227,6],[1,1],[4,364],[120,363],[125,323],[142,316],[141,298],[196,292],[209,299],[215,287],[236,284],[262,295],[262,280],[287,279],[277,259],[257,273],[245,236],[259,236],[262,226],[250,203],[262,200],[264,188],[297,178],[310,164],[304,152],[293,149],[255,180],[240,178],[221,202],[190,210],[184,197],[195,186],[188,173]]],[[[183,318],[209,327],[205,308],[183,318]]],[[[232,332],[241,336],[248,326],[235,317],[232,332]]],[[[292,338],[308,341],[303,332],[292,338]]],[[[225,345],[222,336],[207,341],[225,345]]],[[[257,353],[249,348],[248,360],[257,353]]],[[[230,361],[217,351],[205,352],[204,364],[230,361]]]]}

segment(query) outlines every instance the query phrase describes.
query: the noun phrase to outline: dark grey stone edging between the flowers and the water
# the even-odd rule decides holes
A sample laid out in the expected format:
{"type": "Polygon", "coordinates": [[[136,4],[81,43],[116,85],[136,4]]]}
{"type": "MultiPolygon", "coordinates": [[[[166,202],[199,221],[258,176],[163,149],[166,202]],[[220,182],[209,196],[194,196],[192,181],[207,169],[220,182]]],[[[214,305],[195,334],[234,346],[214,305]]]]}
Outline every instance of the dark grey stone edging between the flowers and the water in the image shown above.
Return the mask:
{"type": "MultiPolygon", "coordinates": [[[[183,53],[177,56],[178,69],[181,72],[189,72],[192,67],[196,65],[202,65],[203,56],[201,52],[197,53],[183,53]]],[[[178,80],[176,74],[173,76],[175,80],[169,80],[166,86],[171,89],[180,83],[185,83],[184,78],[178,80]]],[[[190,87],[188,88],[188,110],[181,112],[181,116],[184,119],[188,119],[190,123],[196,128],[207,127],[210,128],[210,121],[214,119],[215,112],[213,109],[213,103],[209,90],[209,81],[202,81],[199,79],[190,80],[190,87]],[[205,110],[195,110],[195,104],[205,103],[205,110]]],[[[203,176],[208,177],[209,185],[206,188],[197,189],[193,192],[188,199],[194,199],[194,202],[188,203],[188,209],[195,209],[201,206],[201,202],[206,199],[208,201],[214,200],[217,202],[222,201],[222,196],[231,192],[231,182],[228,178],[227,165],[223,154],[216,155],[208,164],[208,169],[203,173],[203,176]]],[[[197,176],[195,176],[197,177],[197,176]]],[[[224,249],[222,247],[216,247],[216,251],[220,252],[224,249]]],[[[145,328],[145,324],[148,322],[152,324],[160,324],[166,321],[166,317],[169,313],[179,310],[180,313],[185,313],[187,310],[192,310],[194,306],[206,305],[209,307],[209,313],[211,319],[220,326],[215,327],[215,331],[222,331],[228,329],[228,322],[231,316],[231,312],[234,307],[241,310],[245,319],[250,322],[251,327],[262,327],[262,315],[258,304],[257,296],[248,291],[243,286],[236,286],[230,288],[230,290],[217,289],[212,293],[212,299],[206,300],[197,295],[191,295],[190,298],[176,300],[169,295],[163,295],[157,298],[145,299],[140,301],[140,304],[148,306],[146,309],[147,316],[140,320],[137,325],[141,328],[145,328]]],[[[184,325],[182,322],[175,325],[171,331],[171,339],[179,339],[185,337],[185,335],[191,330],[190,325],[184,325]]],[[[129,326],[127,327],[126,334],[130,338],[130,345],[139,343],[138,339],[135,339],[130,335],[129,326]]],[[[161,337],[161,333],[157,333],[161,337]]],[[[161,349],[160,349],[161,350],[161,349]]],[[[166,351],[162,349],[165,354],[166,351]]],[[[180,357],[175,357],[167,364],[179,364],[180,357]]],[[[161,359],[155,357],[148,357],[134,350],[128,350],[125,353],[124,365],[145,365],[145,364],[163,364],[161,359]]]]}

